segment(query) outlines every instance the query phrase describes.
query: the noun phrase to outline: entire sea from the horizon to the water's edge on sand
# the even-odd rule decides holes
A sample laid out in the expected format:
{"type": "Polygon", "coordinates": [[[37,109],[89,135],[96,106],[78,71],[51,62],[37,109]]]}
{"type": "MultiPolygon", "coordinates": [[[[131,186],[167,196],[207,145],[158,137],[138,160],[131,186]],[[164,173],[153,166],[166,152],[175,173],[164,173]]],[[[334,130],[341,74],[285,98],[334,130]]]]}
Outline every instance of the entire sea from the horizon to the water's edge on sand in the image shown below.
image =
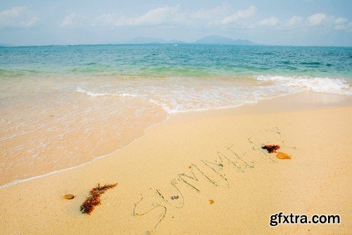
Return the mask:
{"type": "Polygon", "coordinates": [[[351,82],[351,47],[0,47],[0,187],[116,153],[175,113],[351,82]]]}

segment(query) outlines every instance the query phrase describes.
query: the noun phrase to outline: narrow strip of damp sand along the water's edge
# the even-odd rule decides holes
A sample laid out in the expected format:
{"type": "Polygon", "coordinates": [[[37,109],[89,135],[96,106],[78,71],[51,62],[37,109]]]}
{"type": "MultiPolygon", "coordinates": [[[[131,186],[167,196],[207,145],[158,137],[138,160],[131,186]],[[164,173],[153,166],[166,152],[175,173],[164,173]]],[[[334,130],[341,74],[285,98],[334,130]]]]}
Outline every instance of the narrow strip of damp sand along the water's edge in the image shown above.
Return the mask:
{"type": "MultiPolygon", "coordinates": [[[[326,108],[326,107],[330,107],[330,106],[348,106],[348,103],[351,105],[352,104],[352,97],[351,96],[347,96],[347,95],[338,95],[338,94],[323,94],[323,93],[315,93],[313,91],[301,91],[298,92],[296,94],[287,94],[287,95],[281,95],[281,96],[275,96],[275,97],[271,97],[271,98],[266,98],[266,99],[259,99],[258,101],[255,102],[250,102],[250,103],[242,103],[239,106],[234,106],[234,107],[219,107],[219,108],[210,108],[210,109],[201,109],[201,110],[187,110],[187,111],[180,111],[178,113],[168,113],[168,115],[166,116],[165,120],[161,120],[161,122],[156,122],[152,125],[150,125],[149,127],[146,127],[146,129],[143,130],[143,134],[141,136],[137,136],[136,139],[133,139],[129,144],[127,144],[126,146],[122,146],[122,148],[118,148],[115,151],[111,152],[111,153],[107,153],[106,155],[99,155],[95,158],[93,158],[92,160],[87,161],[86,163],[82,163],[80,165],[75,165],[72,167],[67,167],[67,168],[63,168],[60,170],[54,170],[52,172],[48,172],[46,174],[39,174],[39,175],[35,175],[34,177],[29,177],[29,178],[25,178],[25,179],[16,179],[13,182],[8,182],[6,184],[0,185],[0,189],[5,189],[9,186],[13,186],[15,184],[21,184],[23,182],[28,182],[30,180],[34,180],[34,179],[39,179],[42,177],[47,177],[51,174],[59,174],[61,172],[65,172],[68,170],[74,170],[76,168],[79,167],[83,167],[84,165],[89,165],[91,163],[96,162],[97,160],[100,160],[102,158],[107,158],[111,155],[115,155],[117,153],[119,153],[120,151],[122,151],[123,149],[127,148],[128,146],[131,146],[132,144],[134,144],[135,141],[138,141],[139,139],[142,139],[145,135],[146,132],[153,127],[156,127],[158,125],[163,124],[164,122],[167,122],[168,120],[170,120],[170,118],[172,117],[177,117],[177,116],[182,116],[185,115],[187,117],[198,117],[199,115],[211,115],[214,114],[218,115],[219,113],[222,114],[237,114],[237,113],[257,113],[259,111],[259,113],[265,113],[268,112],[268,110],[263,110],[259,109],[259,110],[254,110],[253,106],[256,106],[259,104],[261,104],[260,106],[267,106],[270,107],[268,105],[268,103],[271,102],[277,102],[277,101],[281,101],[284,100],[287,102],[287,100],[290,101],[295,101],[296,98],[300,98],[301,101],[296,101],[296,103],[294,103],[294,106],[287,108],[282,106],[282,104],[279,105],[275,105],[275,106],[271,106],[271,107],[275,107],[274,109],[279,109],[279,110],[295,110],[295,109],[306,109],[306,108],[326,108]],[[320,99],[320,101],[318,101],[317,103],[312,103],[312,102],[308,102],[308,103],[303,103],[302,102],[302,97],[306,97],[303,99],[309,99],[311,97],[315,97],[315,99],[320,99]],[[321,102],[322,97],[325,97],[323,99],[327,99],[327,97],[330,97],[329,99],[331,99],[332,97],[334,97],[334,99],[332,99],[331,101],[328,102],[321,102]],[[336,99],[339,98],[337,101],[336,99]],[[263,104],[262,104],[263,103],[263,104]],[[265,104],[266,103],[266,104],[265,104]]],[[[274,111],[274,109],[269,109],[269,111],[274,111]]],[[[166,111],[165,111],[166,112],[166,111]]],[[[166,112],[167,113],[167,112],[166,112]]]]}

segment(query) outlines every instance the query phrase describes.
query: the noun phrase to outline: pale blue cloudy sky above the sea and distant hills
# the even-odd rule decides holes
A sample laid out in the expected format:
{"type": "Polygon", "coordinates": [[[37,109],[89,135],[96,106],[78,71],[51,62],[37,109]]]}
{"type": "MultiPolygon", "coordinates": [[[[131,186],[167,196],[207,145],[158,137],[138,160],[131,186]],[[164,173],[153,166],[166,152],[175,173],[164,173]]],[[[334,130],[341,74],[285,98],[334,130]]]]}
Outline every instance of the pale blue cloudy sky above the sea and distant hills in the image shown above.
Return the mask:
{"type": "Polygon", "coordinates": [[[194,42],[218,34],[257,44],[352,46],[352,0],[0,0],[0,44],[194,42]]]}

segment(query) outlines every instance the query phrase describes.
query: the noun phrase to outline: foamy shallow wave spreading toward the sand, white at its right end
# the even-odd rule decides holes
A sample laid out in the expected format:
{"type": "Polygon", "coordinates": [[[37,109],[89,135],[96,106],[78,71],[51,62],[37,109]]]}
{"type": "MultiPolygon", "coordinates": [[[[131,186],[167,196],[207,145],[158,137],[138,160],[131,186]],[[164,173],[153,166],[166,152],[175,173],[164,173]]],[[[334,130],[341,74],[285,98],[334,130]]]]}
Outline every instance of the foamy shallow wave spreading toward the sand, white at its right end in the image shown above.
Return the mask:
{"type": "Polygon", "coordinates": [[[325,94],[352,95],[346,80],[329,77],[298,77],[260,75],[245,79],[217,80],[170,78],[163,81],[144,80],[134,86],[110,84],[99,89],[77,87],[77,92],[88,96],[138,97],[146,102],[146,108],[159,106],[166,113],[184,113],[196,110],[232,108],[244,103],[256,103],[260,99],[313,91],[325,94]]]}

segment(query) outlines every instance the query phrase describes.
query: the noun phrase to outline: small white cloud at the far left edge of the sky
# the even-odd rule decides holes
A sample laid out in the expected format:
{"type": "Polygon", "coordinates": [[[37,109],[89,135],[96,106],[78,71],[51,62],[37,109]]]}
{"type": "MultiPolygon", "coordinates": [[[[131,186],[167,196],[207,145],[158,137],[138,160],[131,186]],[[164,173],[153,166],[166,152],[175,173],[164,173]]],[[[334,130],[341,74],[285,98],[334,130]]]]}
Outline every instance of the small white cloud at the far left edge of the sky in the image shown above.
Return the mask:
{"type": "Polygon", "coordinates": [[[38,20],[26,6],[14,6],[0,12],[0,27],[32,27],[38,20]]]}

